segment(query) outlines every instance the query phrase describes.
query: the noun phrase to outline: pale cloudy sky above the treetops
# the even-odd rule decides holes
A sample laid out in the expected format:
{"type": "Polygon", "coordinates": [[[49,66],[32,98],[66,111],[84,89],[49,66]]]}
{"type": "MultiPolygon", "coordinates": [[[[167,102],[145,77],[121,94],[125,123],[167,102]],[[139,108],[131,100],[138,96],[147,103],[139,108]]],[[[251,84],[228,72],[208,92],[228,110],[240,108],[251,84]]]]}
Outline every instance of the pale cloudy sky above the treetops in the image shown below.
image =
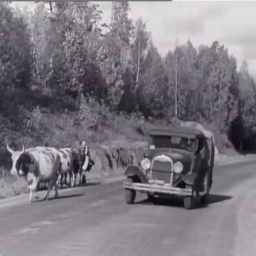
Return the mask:
{"type": "MultiPolygon", "coordinates": [[[[102,22],[109,22],[112,1],[92,1],[103,11],[102,22]]],[[[256,1],[129,1],[132,19],[142,17],[158,51],[164,56],[188,39],[195,47],[219,41],[228,48],[240,68],[247,60],[249,72],[256,75],[256,1]]],[[[28,6],[33,1],[13,1],[28,6]]]]}

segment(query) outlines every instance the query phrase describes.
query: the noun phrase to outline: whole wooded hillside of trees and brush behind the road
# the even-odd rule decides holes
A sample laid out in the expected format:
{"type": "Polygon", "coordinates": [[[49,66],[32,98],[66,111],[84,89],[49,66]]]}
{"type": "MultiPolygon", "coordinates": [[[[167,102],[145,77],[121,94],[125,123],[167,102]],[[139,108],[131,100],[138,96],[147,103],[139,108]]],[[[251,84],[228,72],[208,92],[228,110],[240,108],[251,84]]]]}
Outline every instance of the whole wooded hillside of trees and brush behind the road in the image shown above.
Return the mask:
{"type": "Polygon", "coordinates": [[[220,151],[255,151],[255,79],[217,40],[196,49],[188,39],[162,57],[128,1],[112,2],[109,24],[90,1],[35,2],[33,12],[0,2],[2,159],[7,142],[138,140],[147,124],[170,123],[176,64],[177,118],[209,128],[220,151]]]}

